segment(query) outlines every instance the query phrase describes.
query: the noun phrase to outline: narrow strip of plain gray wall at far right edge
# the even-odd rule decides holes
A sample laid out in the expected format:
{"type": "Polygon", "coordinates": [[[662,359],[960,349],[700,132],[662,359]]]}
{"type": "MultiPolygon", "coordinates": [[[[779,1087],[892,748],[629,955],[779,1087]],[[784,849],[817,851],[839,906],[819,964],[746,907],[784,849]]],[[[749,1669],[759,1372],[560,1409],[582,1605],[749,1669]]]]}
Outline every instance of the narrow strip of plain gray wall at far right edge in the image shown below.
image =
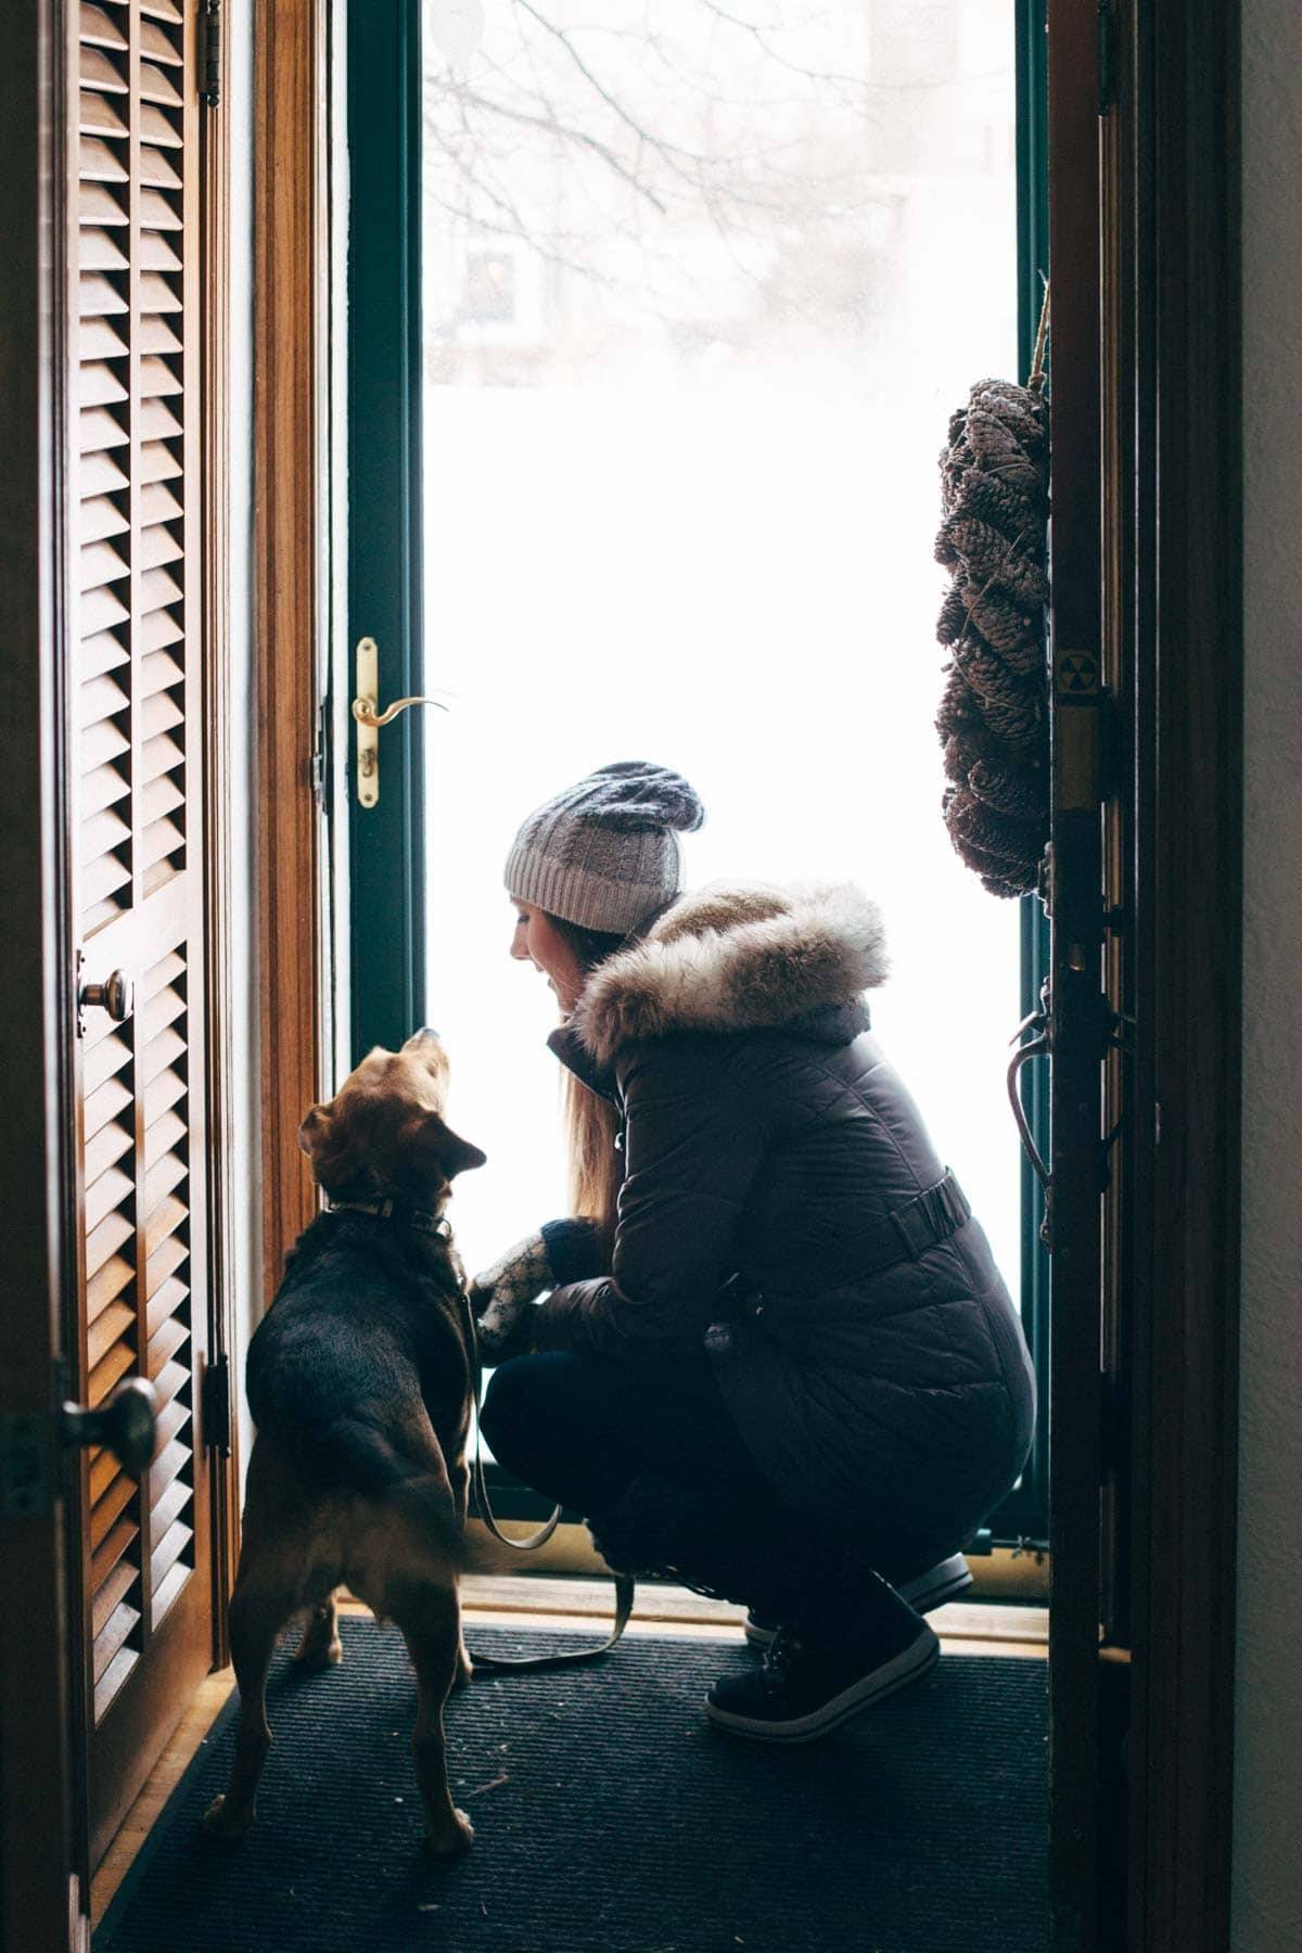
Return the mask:
{"type": "Polygon", "coordinates": [[[1243,10],[1245,986],[1234,1953],[1302,1945],[1302,10],[1243,10]]]}

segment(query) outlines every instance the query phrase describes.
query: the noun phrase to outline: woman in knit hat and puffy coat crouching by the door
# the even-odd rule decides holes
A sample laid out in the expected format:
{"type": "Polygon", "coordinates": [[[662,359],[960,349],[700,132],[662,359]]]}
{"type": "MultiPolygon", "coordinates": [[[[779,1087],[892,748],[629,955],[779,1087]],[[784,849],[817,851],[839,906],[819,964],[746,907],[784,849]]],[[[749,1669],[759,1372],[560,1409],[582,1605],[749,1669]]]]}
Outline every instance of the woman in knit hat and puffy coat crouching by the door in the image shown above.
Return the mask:
{"type": "Polygon", "coordinates": [[[919,1607],[1021,1471],[1035,1387],[990,1246],[869,1033],[855,889],[681,894],[685,779],[625,762],[511,848],[511,955],[549,976],[576,1217],[472,1285],[496,1457],[607,1562],[775,1623],[707,1699],[804,1742],[921,1676],[919,1607]],[[547,1295],[539,1307],[531,1307],[547,1295]]]}

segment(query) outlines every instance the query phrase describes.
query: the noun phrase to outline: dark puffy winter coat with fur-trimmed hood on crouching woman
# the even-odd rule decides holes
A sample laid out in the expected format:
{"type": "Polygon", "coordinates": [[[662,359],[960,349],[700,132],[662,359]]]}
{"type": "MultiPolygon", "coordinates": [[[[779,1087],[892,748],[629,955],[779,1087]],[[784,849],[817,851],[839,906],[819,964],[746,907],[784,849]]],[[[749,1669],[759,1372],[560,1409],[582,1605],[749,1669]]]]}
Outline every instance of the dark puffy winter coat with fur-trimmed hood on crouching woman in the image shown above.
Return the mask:
{"type": "Polygon", "coordinates": [[[535,1346],[705,1348],[777,1490],[921,1564],[1015,1482],[1035,1383],[966,1201],[925,1197],[945,1168],[861,996],[884,975],[849,887],[707,889],[597,969],[552,1049],[623,1107],[613,1269],[562,1281],[535,1346]]]}

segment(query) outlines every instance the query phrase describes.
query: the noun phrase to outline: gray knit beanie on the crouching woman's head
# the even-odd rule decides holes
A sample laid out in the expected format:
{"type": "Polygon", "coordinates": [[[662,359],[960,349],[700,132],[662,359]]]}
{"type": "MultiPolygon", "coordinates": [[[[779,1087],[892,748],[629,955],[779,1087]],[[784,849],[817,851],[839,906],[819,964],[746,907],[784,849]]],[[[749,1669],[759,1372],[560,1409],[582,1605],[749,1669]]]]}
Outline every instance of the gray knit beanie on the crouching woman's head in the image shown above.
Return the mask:
{"type": "Polygon", "coordinates": [[[679,832],[705,820],[681,773],[619,760],[535,807],[506,861],[517,902],[627,935],[683,885],[679,832]]]}

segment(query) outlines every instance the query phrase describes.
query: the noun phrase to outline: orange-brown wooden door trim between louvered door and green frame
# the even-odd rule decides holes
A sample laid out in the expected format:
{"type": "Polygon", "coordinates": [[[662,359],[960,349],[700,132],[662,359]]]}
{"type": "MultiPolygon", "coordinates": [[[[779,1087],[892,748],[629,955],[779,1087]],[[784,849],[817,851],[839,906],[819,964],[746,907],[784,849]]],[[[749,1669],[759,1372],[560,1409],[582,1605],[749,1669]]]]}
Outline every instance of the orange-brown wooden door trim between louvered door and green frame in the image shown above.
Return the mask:
{"type": "Polygon", "coordinates": [[[254,590],[264,1307],[316,1213],[299,1125],[324,1084],[318,783],[328,605],[328,0],[254,25],[254,590]]]}

